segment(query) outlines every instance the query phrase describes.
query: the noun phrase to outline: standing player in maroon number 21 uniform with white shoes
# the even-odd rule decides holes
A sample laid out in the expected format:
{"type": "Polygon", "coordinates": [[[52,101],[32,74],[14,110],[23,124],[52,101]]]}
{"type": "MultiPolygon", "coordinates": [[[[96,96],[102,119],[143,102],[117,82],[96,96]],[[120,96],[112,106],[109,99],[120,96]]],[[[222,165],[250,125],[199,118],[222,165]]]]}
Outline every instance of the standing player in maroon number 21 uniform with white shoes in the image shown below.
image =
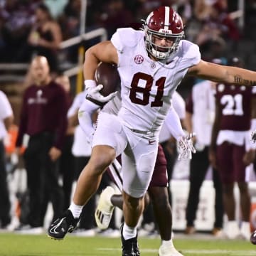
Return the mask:
{"type": "MultiPolygon", "coordinates": [[[[242,61],[233,58],[229,65],[242,67],[242,61]]],[[[251,118],[256,117],[255,87],[220,83],[216,86],[215,120],[209,157],[217,168],[223,185],[223,203],[228,215],[225,235],[234,239],[242,235],[250,240],[250,194],[245,181],[246,166],[255,159],[255,149],[249,142],[251,118]],[[235,220],[234,185],[240,191],[242,224],[235,220]]],[[[251,127],[255,130],[255,127],[251,127]]]]}

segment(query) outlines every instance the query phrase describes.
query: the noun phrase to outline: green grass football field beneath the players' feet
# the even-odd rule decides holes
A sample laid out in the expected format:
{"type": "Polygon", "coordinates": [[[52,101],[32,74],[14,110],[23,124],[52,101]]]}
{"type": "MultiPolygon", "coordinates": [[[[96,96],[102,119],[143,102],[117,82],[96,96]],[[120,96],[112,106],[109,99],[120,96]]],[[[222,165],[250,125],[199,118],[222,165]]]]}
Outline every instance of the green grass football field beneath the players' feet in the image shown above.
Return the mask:
{"type": "MultiPolygon", "coordinates": [[[[140,238],[141,255],[158,255],[159,243],[158,238],[140,238]]],[[[176,238],[175,245],[185,256],[256,255],[256,245],[242,240],[176,238]]],[[[119,256],[120,248],[119,238],[76,238],[68,235],[65,240],[56,241],[46,235],[0,234],[1,256],[119,256]]]]}

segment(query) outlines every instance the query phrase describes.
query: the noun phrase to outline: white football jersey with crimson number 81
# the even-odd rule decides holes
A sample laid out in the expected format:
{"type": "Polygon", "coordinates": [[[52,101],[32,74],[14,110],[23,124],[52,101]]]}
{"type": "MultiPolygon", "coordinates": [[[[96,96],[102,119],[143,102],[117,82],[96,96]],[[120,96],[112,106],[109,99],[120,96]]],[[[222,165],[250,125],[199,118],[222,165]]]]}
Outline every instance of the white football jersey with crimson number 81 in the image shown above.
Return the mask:
{"type": "Polygon", "coordinates": [[[201,60],[198,46],[182,40],[171,58],[149,58],[144,32],[119,28],[111,38],[119,58],[124,125],[141,131],[159,131],[171,106],[171,96],[188,68],[201,60]]]}

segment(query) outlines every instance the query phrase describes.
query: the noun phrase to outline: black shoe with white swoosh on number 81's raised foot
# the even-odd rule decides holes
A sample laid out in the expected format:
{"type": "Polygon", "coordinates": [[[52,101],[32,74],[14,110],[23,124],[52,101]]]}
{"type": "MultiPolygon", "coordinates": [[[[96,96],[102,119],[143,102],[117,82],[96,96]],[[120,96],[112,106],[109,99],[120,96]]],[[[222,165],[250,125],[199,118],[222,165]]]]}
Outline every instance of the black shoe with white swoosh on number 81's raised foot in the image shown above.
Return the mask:
{"type": "Polygon", "coordinates": [[[79,218],[74,218],[70,210],[67,210],[60,218],[53,221],[48,228],[48,236],[53,239],[63,239],[66,233],[72,233],[78,225],[79,218]]]}

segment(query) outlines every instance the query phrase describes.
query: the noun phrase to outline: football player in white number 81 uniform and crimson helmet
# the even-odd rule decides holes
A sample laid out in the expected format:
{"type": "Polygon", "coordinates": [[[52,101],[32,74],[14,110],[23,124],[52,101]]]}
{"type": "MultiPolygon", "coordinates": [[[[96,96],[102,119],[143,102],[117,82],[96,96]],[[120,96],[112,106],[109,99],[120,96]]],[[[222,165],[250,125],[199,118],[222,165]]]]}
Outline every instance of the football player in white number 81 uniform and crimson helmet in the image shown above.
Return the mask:
{"type": "Polygon", "coordinates": [[[102,100],[100,92],[95,91],[95,70],[101,61],[115,63],[121,78],[122,107],[117,116],[100,113],[90,161],[78,178],[70,208],[48,228],[51,238],[64,238],[75,228],[102,174],[122,154],[122,255],[140,255],[137,224],[144,209],[144,194],[154,171],[159,132],[181,80],[185,75],[194,75],[234,85],[256,84],[255,72],[201,60],[198,46],[183,37],[181,16],[171,7],[161,6],[146,18],[144,31],[119,28],[110,41],[86,51],[87,93],[102,100]]]}

